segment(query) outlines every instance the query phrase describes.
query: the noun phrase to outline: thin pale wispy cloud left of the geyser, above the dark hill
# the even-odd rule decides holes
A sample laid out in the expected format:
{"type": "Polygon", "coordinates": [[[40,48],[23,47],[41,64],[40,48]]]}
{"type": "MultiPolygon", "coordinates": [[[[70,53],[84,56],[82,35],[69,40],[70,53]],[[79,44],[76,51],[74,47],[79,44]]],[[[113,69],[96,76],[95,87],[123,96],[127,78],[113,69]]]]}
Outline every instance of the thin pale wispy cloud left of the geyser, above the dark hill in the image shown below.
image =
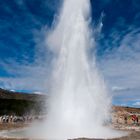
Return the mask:
{"type": "Polygon", "coordinates": [[[41,28],[41,30],[33,30],[35,53],[32,62],[26,59],[24,53],[21,54],[24,57],[22,62],[12,58],[0,60],[0,67],[6,73],[5,76],[0,77],[1,88],[47,92],[51,54],[49,54],[45,44],[46,30],[46,27],[41,28]]]}

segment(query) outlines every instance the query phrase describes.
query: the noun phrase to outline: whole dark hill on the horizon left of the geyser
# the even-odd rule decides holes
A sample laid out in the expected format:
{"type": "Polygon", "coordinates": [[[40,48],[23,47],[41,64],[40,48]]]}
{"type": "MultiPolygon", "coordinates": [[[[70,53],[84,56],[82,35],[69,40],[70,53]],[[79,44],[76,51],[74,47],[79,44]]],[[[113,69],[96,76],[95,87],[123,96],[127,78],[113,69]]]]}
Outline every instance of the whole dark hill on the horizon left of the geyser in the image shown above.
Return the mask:
{"type": "Polygon", "coordinates": [[[40,114],[45,107],[46,96],[20,93],[0,88],[0,115],[40,114]]]}

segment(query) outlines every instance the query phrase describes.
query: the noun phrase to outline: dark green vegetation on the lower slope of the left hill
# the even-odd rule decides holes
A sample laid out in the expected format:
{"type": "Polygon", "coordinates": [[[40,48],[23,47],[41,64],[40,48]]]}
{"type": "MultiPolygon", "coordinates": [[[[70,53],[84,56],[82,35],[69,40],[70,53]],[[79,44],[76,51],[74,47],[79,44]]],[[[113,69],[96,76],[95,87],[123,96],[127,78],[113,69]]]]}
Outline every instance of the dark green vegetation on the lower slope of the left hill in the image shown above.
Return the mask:
{"type": "Polygon", "coordinates": [[[0,99],[0,115],[40,114],[41,104],[35,101],[0,99]]]}

